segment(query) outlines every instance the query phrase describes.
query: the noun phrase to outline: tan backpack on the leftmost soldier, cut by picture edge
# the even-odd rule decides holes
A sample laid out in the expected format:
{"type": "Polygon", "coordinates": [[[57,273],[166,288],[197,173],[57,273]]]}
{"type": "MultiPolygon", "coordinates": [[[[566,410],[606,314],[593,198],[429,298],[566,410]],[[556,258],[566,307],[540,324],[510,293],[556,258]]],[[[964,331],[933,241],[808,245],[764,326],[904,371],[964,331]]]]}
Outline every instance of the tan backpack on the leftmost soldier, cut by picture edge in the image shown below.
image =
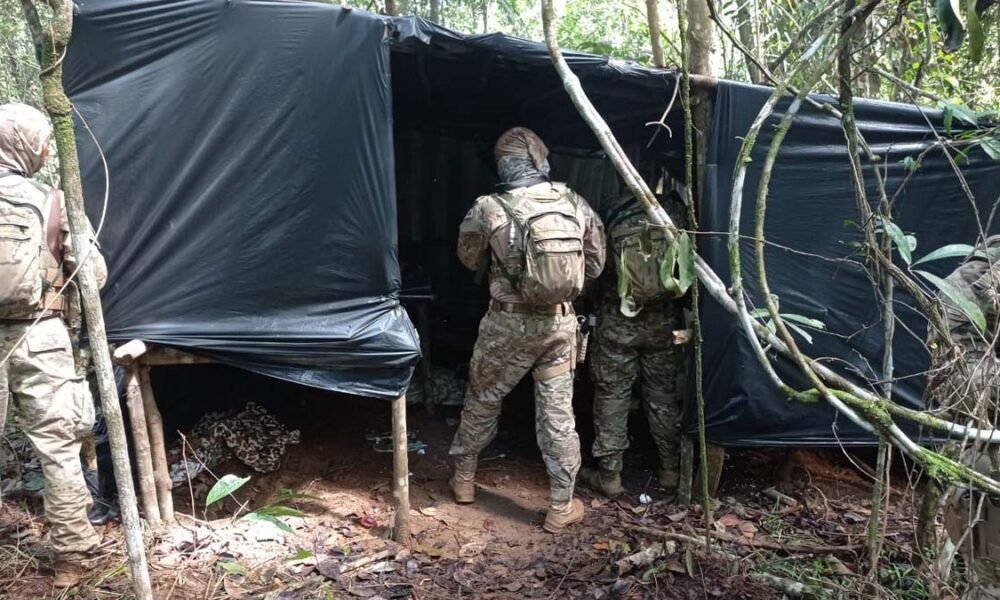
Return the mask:
{"type": "Polygon", "coordinates": [[[45,292],[45,221],[38,204],[5,195],[4,179],[0,173],[0,318],[22,317],[38,309],[45,292]]]}

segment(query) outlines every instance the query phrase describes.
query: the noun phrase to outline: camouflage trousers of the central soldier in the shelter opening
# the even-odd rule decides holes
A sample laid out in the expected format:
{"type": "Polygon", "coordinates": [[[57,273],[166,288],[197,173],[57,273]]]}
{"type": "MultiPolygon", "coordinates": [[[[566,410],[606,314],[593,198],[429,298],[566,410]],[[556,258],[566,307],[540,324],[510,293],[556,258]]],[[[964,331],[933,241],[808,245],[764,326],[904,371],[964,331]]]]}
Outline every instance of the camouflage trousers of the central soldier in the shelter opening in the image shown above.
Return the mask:
{"type": "Polygon", "coordinates": [[[573,499],[580,470],[580,438],[573,415],[576,317],[521,315],[490,309],[479,323],[469,364],[462,421],[450,454],[456,477],[475,477],[479,453],[497,434],[504,397],[531,372],[535,379],[535,434],[549,474],[549,502],[573,499]]]}

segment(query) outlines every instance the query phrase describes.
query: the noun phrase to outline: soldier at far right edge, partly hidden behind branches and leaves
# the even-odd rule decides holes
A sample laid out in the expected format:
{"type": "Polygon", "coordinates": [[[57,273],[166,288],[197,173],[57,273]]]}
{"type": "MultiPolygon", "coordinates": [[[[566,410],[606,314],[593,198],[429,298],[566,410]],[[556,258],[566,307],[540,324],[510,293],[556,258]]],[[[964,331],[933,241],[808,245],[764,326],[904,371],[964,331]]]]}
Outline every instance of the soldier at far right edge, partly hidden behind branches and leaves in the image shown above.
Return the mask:
{"type": "MultiPolygon", "coordinates": [[[[939,407],[949,409],[955,422],[982,423],[986,428],[996,423],[1000,363],[993,343],[997,332],[997,300],[1000,298],[1000,237],[987,239],[987,256],[971,256],[955,269],[947,280],[962,295],[979,307],[986,318],[987,330],[980,331],[953,300],[939,294],[944,320],[954,348],[943,343],[931,331],[931,377],[927,394],[939,407]]],[[[957,444],[950,444],[958,451],[957,444]]],[[[962,461],[994,479],[1000,471],[989,452],[969,448],[962,461]]],[[[925,503],[938,502],[941,490],[931,482],[925,503]]],[[[968,599],[1000,599],[1000,499],[984,497],[970,490],[957,490],[945,508],[945,526],[949,537],[961,546],[959,551],[969,565],[968,599]],[[974,518],[975,517],[975,518],[974,518]],[[965,532],[971,528],[968,535],[965,532]]],[[[925,514],[936,511],[925,505],[925,514]]],[[[923,527],[921,527],[921,530],[923,527]]],[[[926,540],[924,540],[926,542],[926,540]]]]}

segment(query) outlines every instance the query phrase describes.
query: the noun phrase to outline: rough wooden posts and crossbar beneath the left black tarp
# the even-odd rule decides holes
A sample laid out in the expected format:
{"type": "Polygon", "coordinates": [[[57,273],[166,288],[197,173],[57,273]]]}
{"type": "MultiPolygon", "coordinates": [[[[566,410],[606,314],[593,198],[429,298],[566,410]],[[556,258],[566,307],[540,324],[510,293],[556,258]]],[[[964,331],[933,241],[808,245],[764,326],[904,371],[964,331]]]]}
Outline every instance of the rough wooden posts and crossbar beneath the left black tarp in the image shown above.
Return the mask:
{"type": "MultiPolygon", "coordinates": [[[[153,395],[149,372],[152,367],[214,364],[216,361],[173,348],[132,340],[114,352],[115,363],[126,369],[126,403],[142,510],[146,522],[156,529],[174,522],[170,466],[163,433],[163,418],[153,395]]],[[[406,544],[410,538],[409,445],[406,431],[406,395],[392,401],[393,496],[396,516],[393,538],[406,544]]]]}

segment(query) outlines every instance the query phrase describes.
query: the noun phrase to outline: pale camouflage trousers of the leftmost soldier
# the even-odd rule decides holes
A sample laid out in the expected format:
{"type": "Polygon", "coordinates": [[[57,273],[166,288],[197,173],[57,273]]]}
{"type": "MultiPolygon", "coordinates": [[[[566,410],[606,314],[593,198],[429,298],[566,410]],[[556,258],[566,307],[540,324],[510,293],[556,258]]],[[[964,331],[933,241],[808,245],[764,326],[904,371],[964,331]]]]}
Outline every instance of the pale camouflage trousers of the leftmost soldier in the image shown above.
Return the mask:
{"type": "Polygon", "coordinates": [[[29,326],[0,321],[0,359],[13,349],[0,365],[0,431],[13,400],[18,425],[42,466],[52,549],[64,556],[85,554],[101,541],[87,520],[92,500],[80,463],[81,440],[94,426],[94,403],[76,374],[62,319],[42,319],[30,331],[29,326]]]}

